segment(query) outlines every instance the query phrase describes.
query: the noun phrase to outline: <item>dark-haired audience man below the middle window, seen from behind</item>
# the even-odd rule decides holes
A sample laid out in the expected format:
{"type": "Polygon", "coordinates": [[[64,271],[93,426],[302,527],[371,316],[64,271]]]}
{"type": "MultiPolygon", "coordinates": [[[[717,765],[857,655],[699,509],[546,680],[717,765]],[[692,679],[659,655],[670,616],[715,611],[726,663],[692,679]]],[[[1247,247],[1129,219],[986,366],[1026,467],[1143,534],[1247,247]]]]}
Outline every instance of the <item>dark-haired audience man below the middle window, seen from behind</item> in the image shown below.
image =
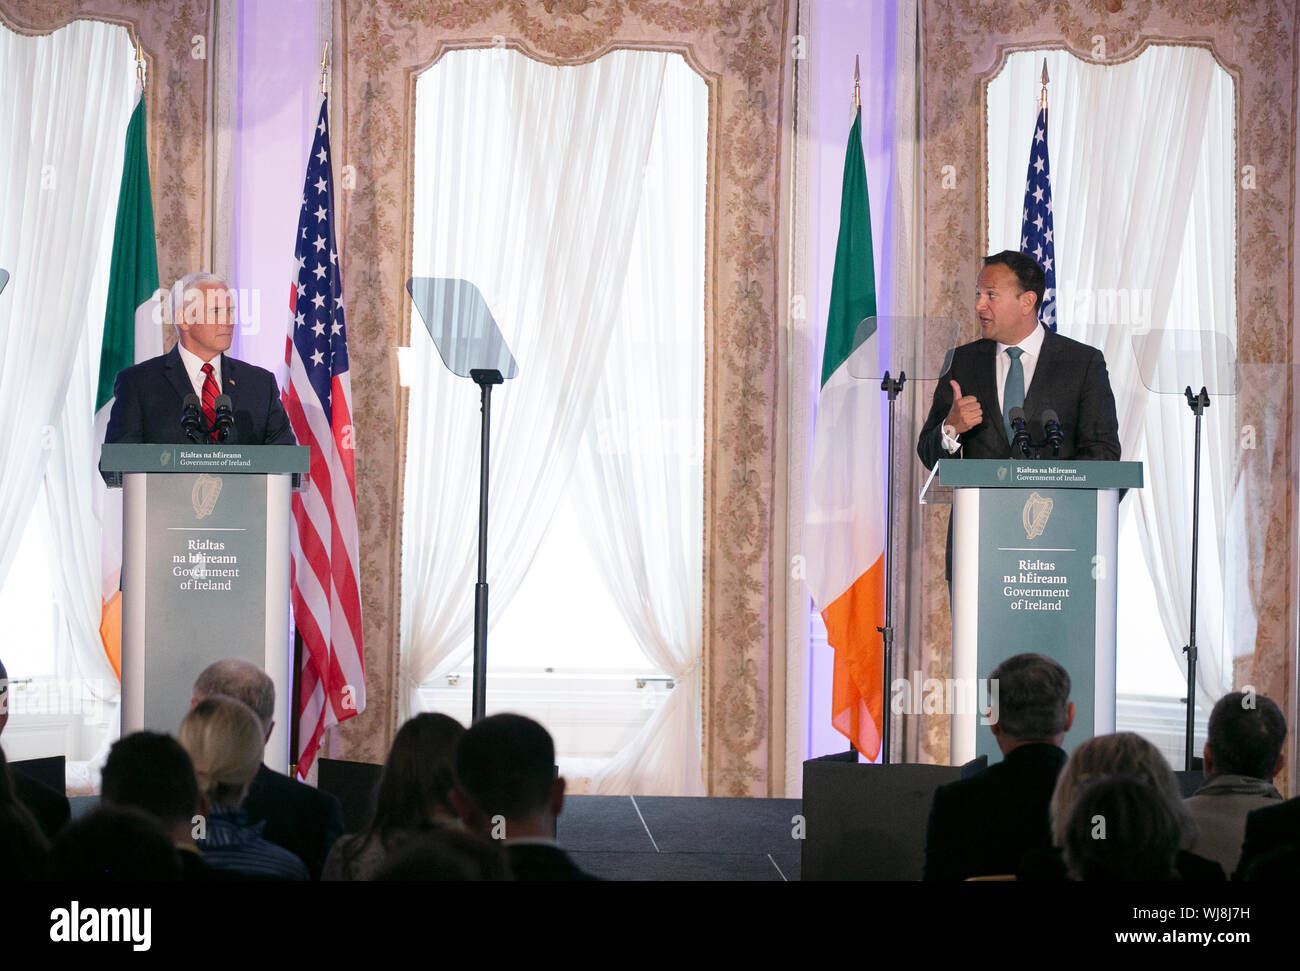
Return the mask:
{"type": "Polygon", "coordinates": [[[593,880],[555,841],[564,780],[550,732],[523,715],[493,715],[456,746],[451,805],[473,833],[503,840],[516,880],[593,880]]]}

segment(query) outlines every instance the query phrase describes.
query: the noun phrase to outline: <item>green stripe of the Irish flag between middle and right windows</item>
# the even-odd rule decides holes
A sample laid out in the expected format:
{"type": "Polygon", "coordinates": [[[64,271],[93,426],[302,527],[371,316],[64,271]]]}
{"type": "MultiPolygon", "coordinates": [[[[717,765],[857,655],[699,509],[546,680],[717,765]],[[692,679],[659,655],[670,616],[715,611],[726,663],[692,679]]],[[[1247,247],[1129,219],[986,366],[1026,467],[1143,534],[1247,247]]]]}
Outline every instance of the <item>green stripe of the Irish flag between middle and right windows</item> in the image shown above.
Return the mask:
{"type": "MultiPolygon", "coordinates": [[[[854,351],[853,335],[866,317],[876,316],[876,274],[871,253],[871,207],[867,203],[867,166],[862,159],[862,109],[849,129],[840,195],[840,240],[835,247],[831,312],[822,355],[822,385],[854,351]]],[[[862,339],[870,334],[863,334],[862,339]]]]}

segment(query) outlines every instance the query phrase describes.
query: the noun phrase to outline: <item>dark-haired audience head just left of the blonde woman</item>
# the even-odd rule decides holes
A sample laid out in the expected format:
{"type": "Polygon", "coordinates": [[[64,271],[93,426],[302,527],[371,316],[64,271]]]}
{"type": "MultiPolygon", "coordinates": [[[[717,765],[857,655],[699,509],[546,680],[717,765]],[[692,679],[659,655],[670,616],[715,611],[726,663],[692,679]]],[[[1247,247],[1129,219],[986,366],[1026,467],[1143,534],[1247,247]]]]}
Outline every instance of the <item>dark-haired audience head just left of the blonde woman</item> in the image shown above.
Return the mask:
{"type": "Polygon", "coordinates": [[[174,842],[192,840],[199,781],[190,754],[172,736],[134,732],[113,742],[100,792],[105,806],[131,806],[148,812],[174,842]]]}

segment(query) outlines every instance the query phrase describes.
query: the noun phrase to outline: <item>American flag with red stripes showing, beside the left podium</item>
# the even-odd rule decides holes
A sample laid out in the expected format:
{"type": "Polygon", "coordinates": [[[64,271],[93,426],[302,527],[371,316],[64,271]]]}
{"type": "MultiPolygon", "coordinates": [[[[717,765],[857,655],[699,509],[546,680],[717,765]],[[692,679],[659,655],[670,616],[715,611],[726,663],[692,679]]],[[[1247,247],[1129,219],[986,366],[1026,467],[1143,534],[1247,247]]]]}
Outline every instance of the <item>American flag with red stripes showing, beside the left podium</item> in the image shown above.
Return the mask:
{"type": "Polygon", "coordinates": [[[298,772],[306,776],[325,729],[365,708],[361,588],[352,465],[352,383],[343,285],[334,242],[329,99],[307,161],[289,291],[285,411],[312,450],[311,477],[294,493],[291,597],[303,641],[298,772]]]}

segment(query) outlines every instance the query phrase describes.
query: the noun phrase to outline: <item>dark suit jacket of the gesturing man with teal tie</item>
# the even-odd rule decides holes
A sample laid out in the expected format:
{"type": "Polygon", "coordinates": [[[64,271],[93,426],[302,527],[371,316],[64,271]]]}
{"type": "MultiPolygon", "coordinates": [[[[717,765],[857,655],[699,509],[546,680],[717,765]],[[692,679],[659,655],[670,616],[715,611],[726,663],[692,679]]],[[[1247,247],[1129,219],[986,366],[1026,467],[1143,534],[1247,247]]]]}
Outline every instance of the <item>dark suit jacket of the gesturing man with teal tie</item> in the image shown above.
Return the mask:
{"type": "MultiPolygon", "coordinates": [[[[930,415],[916,441],[916,454],[933,468],[940,459],[1008,459],[1011,443],[1006,441],[1002,412],[997,407],[996,341],[975,341],[953,352],[953,365],[935,387],[930,415]],[[962,386],[962,394],[979,398],[984,421],[958,435],[962,450],[949,455],[944,450],[942,424],[953,407],[949,380],[962,386]]],[[[1024,394],[1024,413],[1035,442],[1044,439],[1043,412],[1050,408],[1061,419],[1065,442],[1062,459],[1119,459],[1119,424],[1115,419],[1115,396],[1110,391],[1106,360],[1096,347],[1071,341],[1048,330],[1034,369],[1034,381],[1024,394]]],[[[1049,452],[1049,450],[1044,450],[1049,452]]],[[[1053,458],[1049,454],[1045,458],[1053,458]]]]}

